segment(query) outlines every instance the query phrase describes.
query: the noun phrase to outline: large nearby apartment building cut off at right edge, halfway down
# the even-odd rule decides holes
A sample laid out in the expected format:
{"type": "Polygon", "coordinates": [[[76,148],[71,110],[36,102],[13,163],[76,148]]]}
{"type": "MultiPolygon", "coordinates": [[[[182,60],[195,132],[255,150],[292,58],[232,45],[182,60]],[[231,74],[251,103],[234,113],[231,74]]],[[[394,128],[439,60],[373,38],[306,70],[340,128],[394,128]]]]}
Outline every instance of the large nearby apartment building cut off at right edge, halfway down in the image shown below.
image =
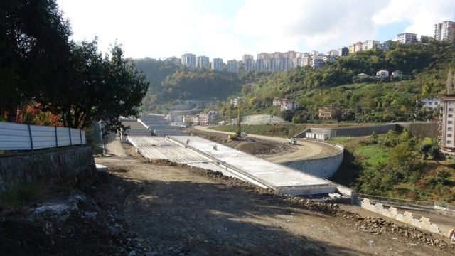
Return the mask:
{"type": "Polygon", "coordinates": [[[455,95],[441,97],[441,147],[442,151],[455,154],[455,95]]]}

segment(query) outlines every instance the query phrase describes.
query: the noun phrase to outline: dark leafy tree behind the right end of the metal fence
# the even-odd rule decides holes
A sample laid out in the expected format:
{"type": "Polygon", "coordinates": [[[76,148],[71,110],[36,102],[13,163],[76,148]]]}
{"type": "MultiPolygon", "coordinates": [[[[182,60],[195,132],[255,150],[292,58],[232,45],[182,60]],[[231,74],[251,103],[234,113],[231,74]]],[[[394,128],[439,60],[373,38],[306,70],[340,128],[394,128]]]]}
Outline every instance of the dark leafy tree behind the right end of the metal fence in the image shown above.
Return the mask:
{"type": "Polygon", "coordinates": [[[65,127],[89,127],[103,120],[107,131],[122,127],[118,117],[137,115],[149,83],[115,45],[102,57],[96,39],[73,43],[68,80],[45,99],[45,109],[61,113],[65,127]]]}

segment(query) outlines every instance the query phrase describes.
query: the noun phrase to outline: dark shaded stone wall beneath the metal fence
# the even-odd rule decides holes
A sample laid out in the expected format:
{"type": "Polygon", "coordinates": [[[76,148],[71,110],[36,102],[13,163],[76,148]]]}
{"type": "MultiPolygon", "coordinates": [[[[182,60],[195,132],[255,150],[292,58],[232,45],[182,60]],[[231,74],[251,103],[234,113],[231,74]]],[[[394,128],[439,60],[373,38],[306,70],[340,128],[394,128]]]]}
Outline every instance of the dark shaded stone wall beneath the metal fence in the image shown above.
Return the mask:
{"type": "Polygon", "coordinates": [[[76,185],[95,174],[90,146],[0,155],[0,192],[36,182],[76,185]]]}

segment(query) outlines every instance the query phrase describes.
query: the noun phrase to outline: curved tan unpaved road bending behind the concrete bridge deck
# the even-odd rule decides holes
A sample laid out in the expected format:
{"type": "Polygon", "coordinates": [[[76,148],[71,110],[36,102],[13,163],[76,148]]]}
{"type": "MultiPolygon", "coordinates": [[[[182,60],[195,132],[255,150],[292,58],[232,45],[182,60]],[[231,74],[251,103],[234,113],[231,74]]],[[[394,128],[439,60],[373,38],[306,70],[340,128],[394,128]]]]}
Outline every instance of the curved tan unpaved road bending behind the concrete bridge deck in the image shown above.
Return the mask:
{"type": "MultiPolygon", "coordinates": [[[[218,133],[218,134],[232,134],[232,132],[223,132],[223,131],[218,131],[215,129],[210,129],[209,127],[200,127],[196,126],[193,127],[194,129],[200,130],[200,131],[206,131],[206,132],[213,132],[213,133],[218,133]]],[[[263,136],[263,135],[256,135],[256,134],[248,134],[248,137],[256,138],[256,139],[262,139],[265,141],[271,141],[271,142],[279,142],[279,143],[286,143],[287,139],[282,138],[282,137],[271,137],[271,136],[263,136]]],[[[294,151],[284,151],[280,154],[272,154],[268,156],[264,156],[264,159],[272,161],[277,164],[282,164],[286,163],[289,161],[297,161],[297,160],[303,160],[303,159],[318,159],[324,156],[330,156],[332,154],[335,154],[336,152],[340,151],[335,146],[331,146],[329,144],[321,143],[321,142],[315,142],[315,141],[309,141],[306,139],[297,139],[297,145],[293,145],[292,148],[294,148],[294,151]]]]}

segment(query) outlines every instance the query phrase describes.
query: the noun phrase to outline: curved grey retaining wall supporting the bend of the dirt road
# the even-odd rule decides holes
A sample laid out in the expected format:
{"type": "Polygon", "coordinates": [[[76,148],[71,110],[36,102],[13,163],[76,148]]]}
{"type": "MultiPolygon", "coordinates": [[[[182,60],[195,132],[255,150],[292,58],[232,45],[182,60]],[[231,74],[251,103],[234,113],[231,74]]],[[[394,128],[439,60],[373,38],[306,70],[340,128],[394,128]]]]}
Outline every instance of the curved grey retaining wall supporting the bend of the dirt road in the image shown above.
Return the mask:
{"type": "Polygon", "coordinates": [[[319,178],[330,178],[335,174],[338,167],[343,161],[344,148],[341,145],[336,145],[340,151],[331,156],[322,157],[319,159],[304,159],[299,161],[290,161],[282,163],[284,166],[304,171],[306,174],[311,174],[319,178]]]}

